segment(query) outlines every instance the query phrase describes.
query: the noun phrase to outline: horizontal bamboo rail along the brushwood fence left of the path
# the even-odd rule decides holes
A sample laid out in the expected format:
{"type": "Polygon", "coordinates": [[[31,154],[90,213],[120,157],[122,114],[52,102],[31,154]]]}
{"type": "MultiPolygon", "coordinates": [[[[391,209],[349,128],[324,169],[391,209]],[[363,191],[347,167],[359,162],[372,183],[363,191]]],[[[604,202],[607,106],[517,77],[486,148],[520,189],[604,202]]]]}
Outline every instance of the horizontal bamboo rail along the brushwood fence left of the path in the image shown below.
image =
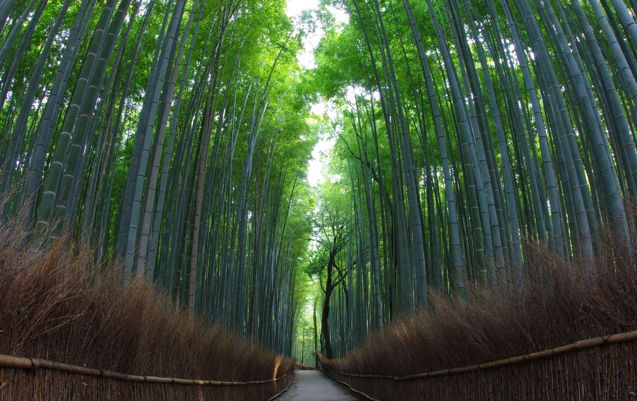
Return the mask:
{"type": "Polygon", "coordinates": [[[31,358],[29,356],[11,356],[0,354],[0,368],[13,368],[13,369],[51,369],[60,370],[62,372],[69,372],[75,374],[82,374],[85,376],[105,377],[106,379],[115,379],[121,381],[132,381],[136,383],[157,383],[157,384],[190,384],[196,386],[244,386],[246,384],[262,384],[271,383],[273,381],[281,380],[283,377],[289,376],[294,369],[290,369],[289,372],[281,377],[275,377],[269,380],[257,380],[257,381],[217,381],[217,380],[195,380],[195,379],[176,379],[175,377],[156,377],[156,376],[136,376],[132,374],[125,374],[119,372],[113,372],[112,370],[102,370],[87,368],[78,365],[69,365],[69,363],[54,362],[46,359],[31,358]]]}

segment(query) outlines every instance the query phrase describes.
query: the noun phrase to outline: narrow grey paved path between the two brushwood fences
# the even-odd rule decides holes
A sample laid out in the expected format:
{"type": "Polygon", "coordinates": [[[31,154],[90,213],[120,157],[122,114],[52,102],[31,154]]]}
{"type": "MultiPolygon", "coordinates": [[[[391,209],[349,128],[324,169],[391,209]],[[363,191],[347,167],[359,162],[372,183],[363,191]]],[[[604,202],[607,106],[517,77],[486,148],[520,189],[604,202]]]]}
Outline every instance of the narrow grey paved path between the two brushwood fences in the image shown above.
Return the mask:
{"type": "Polygon", "coordinates": [[[285,391],[281,401],[352,401],[356,398],[336,386],[336,382],[320,370],[297,370],[292,378],[290,390],[285,391]]]}

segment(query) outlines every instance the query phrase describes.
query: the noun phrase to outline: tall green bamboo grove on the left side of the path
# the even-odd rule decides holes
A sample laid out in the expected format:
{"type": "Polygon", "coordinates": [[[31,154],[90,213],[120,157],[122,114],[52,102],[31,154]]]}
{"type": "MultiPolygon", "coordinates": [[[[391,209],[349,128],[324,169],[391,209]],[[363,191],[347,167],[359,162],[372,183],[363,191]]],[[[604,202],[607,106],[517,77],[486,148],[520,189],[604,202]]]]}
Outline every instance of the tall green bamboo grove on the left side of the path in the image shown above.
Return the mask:
{"type": "Polygon", "coordinates": [[[0,224],[290,353],[310,229],[285,3],[0,1],[0,224]]]}

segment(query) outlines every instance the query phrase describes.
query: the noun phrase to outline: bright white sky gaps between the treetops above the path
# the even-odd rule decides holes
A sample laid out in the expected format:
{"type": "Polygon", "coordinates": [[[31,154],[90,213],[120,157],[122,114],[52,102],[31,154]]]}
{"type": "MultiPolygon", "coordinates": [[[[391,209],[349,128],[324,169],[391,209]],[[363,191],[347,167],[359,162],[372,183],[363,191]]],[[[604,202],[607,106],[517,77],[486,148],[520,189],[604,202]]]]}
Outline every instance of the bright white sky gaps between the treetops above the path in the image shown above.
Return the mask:
{"type": "MultiPolygon", "coordinates": [[[[319,0],[288,0],[287,1],[287,15],[294,20],[294,17],[301,15],[302,10],[311,10],[314,8],[318,8],[319,0]]],[[[331,6],[328,6],[327,9],[331,11],[336,18],[337,23],[347,24],[348,15],[345,11],[337,10],[331,6]]],[[[318,41],[323,37],[324,31],[317,27],[316,32],[313,34],[309,34],[306,38],[303,39],[303,45],[305,46],[304,52],[301,53],[297,60],[299,60],[299,64],[301,66],[311,69],[315,67],[314,64],[314,55],[313,50],[316,46],[318,46],[318,41]]],[[[331,110],[331,105],[329,102],[319,102],[317,104],[313,104],[311,108],[313,113],[317,115],[322,115],[323,113],[327,113],[327,115],[334,118],[334,111],[331,110]]],[[[325,157],[322,157],[322,153],[331,149],[334,146],[336,139],[328,138],[327,136],[322,136],[318,143],[314,146],[312,150],[312,159],[308,165],[308,182],[311,186],[317,186],[320,181],[322,181],[325,177],[323,174],[323,167],[327,164],[327,160],[325,157]]]]}

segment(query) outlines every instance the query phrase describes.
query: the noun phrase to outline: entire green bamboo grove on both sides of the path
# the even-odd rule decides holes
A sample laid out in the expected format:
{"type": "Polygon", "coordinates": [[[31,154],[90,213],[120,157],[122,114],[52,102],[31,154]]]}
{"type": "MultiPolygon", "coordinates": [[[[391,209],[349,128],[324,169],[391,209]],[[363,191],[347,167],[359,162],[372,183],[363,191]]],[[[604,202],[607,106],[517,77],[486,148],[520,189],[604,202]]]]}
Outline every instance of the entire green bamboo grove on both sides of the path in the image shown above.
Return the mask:
{"type": "Polygon", "coordinates": [[[590,280],[604,238],[632,255],[637,2],[285,8],[0,0],[0,226],[306,362],[318,330],[332,358],[433,297],[524,292],[529,247],[590,280]]]}

